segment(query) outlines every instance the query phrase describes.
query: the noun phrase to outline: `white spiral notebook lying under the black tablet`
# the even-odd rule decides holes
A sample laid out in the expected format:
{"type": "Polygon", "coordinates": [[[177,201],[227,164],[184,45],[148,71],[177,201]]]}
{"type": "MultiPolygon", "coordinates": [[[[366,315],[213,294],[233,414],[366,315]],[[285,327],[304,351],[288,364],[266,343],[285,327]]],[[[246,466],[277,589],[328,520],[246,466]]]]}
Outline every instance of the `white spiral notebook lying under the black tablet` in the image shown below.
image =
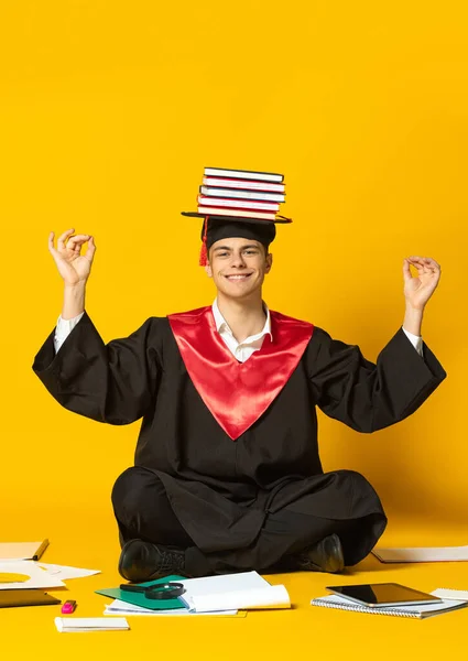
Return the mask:
{"type": "MultiPolygon", "coordinates": [[[[433,593],[431,593],[433,594],[433,593]]],[[[436,595],[434,595],[436,596],[436,595]]],[[[434,615],[442,615],[450,610],[458,610],[468,606],[467,602],[456,602],[443,599],[440,604],[422,604],[421,606],[393,606],[392,608],[380,607],[369,608],[360,606],[339,595],[327,595],[312,599],[312,606],[324,606],[325,608],[338,608],[339,610],[353,610],[355,613],[369,613],[371,615],[391,615],[393,617],[412,617],[416,619],[425,619],[434,615]]]]}

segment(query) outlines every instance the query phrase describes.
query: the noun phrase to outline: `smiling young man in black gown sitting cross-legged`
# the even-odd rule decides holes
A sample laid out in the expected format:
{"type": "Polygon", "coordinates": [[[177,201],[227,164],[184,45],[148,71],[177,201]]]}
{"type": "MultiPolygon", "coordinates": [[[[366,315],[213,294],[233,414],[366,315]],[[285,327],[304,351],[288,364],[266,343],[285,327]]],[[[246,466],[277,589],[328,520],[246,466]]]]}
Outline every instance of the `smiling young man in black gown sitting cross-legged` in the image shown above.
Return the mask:
{"type": "Polygon", "coordinates": [[[403,327],[373,365],[263,303],[273,223],[206,223],[213,306],[151,317],[107,346],[85,312],[94,238],[69,229],[55,248],[52,234],[64,306],[33,369],[70,411],[110,424],[143,418],[135,466],[112,492],[124,578],[340,572],[371,551],[387,519],[361,475],[324,474],[315,407],[369,433],[427,399],[446,376],[421,339],[440,269],[404,260],[403,327]]]}

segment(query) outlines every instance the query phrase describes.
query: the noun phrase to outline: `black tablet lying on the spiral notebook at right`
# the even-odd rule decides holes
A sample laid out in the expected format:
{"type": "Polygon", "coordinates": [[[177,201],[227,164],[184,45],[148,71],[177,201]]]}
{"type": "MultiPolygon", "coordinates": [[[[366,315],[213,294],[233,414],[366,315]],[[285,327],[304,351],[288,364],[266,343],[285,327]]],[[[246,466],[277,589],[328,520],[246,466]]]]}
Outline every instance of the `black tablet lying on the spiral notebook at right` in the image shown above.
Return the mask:
{"type": "Polygon", "coordinates": [[[417,589],[400,585],[399,583],[367,583],[363,585],[333,585],[327,587],[330,592],[346,597],[351,602],[380,608],[382,606],[409,606],[417,604],[435,604],[440,602],[437,597],[422,593],[417,589]]]}

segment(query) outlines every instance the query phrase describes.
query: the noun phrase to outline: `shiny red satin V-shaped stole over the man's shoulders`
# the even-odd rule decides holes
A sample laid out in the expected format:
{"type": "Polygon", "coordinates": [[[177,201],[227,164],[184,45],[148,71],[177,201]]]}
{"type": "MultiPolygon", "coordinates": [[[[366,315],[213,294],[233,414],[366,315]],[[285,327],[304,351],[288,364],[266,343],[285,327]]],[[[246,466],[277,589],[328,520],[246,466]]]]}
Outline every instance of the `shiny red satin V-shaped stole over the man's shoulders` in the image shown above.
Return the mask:
{"type": "Polygon", "coordinates": [[[236,441],[266,411],[286,384],[314,326],[270,312],[271,333],[261,349],[239,362],[216,329],[211,307],[168,315],[187,372],[206,407],[236,441]]]}

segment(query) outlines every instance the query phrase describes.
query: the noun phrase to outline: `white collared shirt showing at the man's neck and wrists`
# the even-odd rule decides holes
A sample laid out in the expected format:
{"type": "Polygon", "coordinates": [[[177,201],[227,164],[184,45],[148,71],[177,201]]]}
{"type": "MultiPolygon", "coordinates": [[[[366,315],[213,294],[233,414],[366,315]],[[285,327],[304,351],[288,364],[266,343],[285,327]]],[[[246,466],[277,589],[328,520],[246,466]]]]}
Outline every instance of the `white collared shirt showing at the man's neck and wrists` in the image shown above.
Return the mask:
{"type": "MultiPolygon", "coordinates": [[[[239,362],[246,362],[248,358],[254,353],[258,351],[263,344],[263,339],[265,335],[270,335],[273,340],[273,336],[271,334],[271,319],[270,319],[270,310],[266,305],[263,304],[264,311],[266,313],[265,325],[263,326],[263,330],[258,333],[257,335],[251,335],[247,337],[243,342],[237,342],[236,337],[232,335],[232,330],[229,328],[225,317],[219,312],[218,303],[215,299],[215,302],[211,306],[213,316],[215,317],[216,329],[219,335],[222,337],[222,340],[226,343],[226,346],[231,351],[232,356],[239,360],[239,362]]],[[[64,344],[68,335],[75,328],[76,324],[83,317],[84,313],[78,314],[78,316],[73,319],[63,319],[62,316],[58,317],[57,327],[55,328],[54,335],[54,347],[55,353],[58,351],[61,346],[64,344]]],[[[403,333],[406,335],[413,347],[420,354],[423,355],[423,338],[418,335],[413,335],[405,328],[403,328],[403,333]]]]}

